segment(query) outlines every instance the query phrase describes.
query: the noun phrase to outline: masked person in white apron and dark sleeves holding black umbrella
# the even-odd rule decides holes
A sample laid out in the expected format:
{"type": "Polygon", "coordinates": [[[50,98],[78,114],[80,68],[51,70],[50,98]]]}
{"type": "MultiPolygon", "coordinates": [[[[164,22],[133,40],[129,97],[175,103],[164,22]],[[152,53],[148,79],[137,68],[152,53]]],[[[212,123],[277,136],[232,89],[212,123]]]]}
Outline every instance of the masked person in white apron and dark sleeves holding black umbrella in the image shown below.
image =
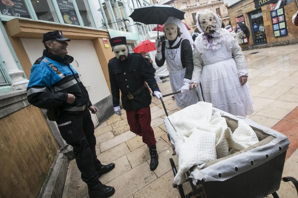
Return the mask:
{"type": "MultiPolygon", "coordinates": [[[[162,45],[159,39],[155,42],[155,62],[160,67],[167,61],[172,91],[181,90],[175,94],[176,104],[183,109],[198,102],[195,91],[189,90],[193,73],[193,39],[182,21],[174,17],[169,17],[164,23],[164,33],[166,40],[162,45]]],[[[199,86],[197,90],[202,101],[199,86]]]]}

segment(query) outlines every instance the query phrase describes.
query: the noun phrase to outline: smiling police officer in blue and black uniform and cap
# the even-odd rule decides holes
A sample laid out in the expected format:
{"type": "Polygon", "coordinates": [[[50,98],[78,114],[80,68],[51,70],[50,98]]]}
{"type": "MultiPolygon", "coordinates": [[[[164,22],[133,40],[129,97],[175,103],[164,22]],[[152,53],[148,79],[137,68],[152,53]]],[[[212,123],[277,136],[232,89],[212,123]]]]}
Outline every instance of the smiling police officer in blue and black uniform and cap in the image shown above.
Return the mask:
{"type": "Polygon", "coordinates": [[[115,189],[103,185],[98,179],[115,164],[102,165],[97,159],[92,106],[88,92],[78,73],[71,66],[73,57],[66,55],[70,39],[61,31],[47,32],[42,42],[46,50],[31,68],[27,96],[30,104],[46,108],[48,118],[56,121],[61,136],[73,146],[77,167],[82,180],[88,185],[90,197],[110,197],[115,189]],[[88,110],[89,109],[89,110],[88,110]]]}

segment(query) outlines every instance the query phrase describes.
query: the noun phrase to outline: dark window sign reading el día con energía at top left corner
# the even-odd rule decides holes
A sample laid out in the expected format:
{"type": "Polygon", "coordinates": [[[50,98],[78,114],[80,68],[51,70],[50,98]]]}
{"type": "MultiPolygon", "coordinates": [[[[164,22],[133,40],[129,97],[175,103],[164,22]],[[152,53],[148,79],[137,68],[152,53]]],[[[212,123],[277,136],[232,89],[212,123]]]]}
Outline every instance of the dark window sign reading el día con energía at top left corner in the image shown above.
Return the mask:
{"type": "Polygon", "coordinates": [[[2,0],[0,10],[2,15],[31,18],[24,0],[2,0]]]}

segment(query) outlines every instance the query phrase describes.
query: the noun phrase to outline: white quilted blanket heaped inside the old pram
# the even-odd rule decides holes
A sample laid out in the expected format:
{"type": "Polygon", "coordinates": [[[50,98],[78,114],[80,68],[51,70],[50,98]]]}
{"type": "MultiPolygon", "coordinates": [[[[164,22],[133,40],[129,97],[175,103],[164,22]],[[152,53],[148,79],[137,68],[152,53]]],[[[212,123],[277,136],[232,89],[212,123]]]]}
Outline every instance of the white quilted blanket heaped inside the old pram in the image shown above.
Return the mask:
{"type": "Polygon", "coordinates": [[[244,121],[238,121],[238,128],[232,133],[219,112],[212,115],[211,103],[198,102],[168,118],[176,131],[175,150],[179,159],[174,184],[183,183],[185,172],[191,167],[228,156],[229,148],[242,150],[259,142],[244,121]]]}

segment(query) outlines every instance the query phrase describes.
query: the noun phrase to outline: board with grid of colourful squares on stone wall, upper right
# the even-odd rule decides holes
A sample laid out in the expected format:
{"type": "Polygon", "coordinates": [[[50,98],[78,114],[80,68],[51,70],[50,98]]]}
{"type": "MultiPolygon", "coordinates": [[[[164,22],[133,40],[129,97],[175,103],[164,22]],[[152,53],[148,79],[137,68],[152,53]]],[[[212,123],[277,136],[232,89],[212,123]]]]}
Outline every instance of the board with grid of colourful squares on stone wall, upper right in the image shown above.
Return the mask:
{"type": "MultiPolygon", "coordinates": [[[[269,7],[270,9],[270,7],[269,7]]],[[[282,8],[272,10],[270,12],[273,26],[274,37],[282,37],[288,35],[287,26],[285,22],[285,11],[282,8]]]]}

